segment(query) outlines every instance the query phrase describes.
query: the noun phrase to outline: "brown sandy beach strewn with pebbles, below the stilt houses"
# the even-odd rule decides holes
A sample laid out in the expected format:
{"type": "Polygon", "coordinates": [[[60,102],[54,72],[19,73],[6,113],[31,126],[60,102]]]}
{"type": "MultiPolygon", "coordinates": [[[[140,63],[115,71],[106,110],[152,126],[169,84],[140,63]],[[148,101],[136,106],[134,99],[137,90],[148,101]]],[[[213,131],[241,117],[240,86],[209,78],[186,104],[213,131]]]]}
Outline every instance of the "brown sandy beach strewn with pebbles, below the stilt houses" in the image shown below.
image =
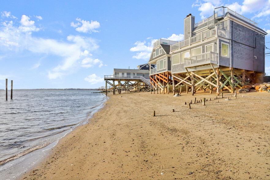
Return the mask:
{"type": "Polygon", "coordinates": [[[270,179],[270,93],[224,95],[110,94],[21,179],[270,179]]]}

